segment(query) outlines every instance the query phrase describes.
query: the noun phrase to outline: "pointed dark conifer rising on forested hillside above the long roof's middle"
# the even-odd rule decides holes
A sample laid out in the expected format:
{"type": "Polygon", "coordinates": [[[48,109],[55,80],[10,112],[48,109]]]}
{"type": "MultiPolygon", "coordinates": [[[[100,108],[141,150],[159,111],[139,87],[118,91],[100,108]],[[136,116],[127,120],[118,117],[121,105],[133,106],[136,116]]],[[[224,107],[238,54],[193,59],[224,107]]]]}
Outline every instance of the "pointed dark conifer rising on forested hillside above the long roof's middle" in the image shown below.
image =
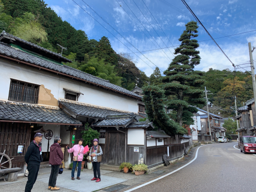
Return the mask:
{"type": "Polygon", "coordinates": [[[94,51],[99,59],[104,59],[105,62],[109,62],[112,65],[117,64],[118,57],[115,51],[112,49],[108,37],[101,37],[94,51]]]}

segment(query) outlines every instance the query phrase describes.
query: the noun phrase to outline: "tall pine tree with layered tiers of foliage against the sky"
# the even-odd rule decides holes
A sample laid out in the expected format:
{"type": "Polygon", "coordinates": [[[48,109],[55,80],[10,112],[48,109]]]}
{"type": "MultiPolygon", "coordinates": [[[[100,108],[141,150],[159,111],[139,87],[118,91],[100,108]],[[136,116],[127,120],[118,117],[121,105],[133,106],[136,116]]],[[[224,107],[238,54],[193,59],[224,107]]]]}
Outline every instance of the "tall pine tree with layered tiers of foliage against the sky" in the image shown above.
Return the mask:
{"type": "Polygon", "coordinates": [[[166,102],[168,109],[175,113],[173,119],[180,125],[192,124],[193,113],[197,112],[194,105],[204,104],[203,90],[198,89],[203,83],[203,72],[194,71],[200,63],[197,22],[191,21],[186,25],[186,30],[181,34],[181,45],[175,49],[175,58],[162,77],[165,95],[169,98],[166,102]],[[172,99],[170,99],[172,97],[172,99]]]}

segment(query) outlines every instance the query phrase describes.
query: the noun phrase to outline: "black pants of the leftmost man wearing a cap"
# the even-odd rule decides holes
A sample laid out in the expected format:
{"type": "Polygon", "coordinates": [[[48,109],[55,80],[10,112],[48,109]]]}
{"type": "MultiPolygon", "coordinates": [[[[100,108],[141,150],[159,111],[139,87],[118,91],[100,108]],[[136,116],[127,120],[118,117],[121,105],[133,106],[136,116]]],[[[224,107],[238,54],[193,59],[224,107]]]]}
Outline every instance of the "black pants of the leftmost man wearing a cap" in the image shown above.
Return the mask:
{"type": "Polygon", "coordinates": [[[28,164],[29,175],[28,175],[28,181],[25,187],[25,192],[30,192],[31,189],[33,188],[33,185],[35,184],[35,181],[37,179],[39,167],[40,165],[28,164]]]}

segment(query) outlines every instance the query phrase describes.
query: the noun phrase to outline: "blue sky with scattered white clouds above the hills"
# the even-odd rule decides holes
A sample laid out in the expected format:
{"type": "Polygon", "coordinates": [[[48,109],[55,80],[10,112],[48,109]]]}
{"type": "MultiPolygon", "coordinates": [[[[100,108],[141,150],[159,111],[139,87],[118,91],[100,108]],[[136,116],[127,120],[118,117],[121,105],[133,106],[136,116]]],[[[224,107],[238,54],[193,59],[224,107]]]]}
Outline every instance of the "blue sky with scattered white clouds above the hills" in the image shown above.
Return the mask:
{"type": "MultiPolygon", "coordinates": [[[[240,71],[250,70],[248,42],[256,47],[256,4],[253,0],[185,0],[218,45],[240,71]],[[252,32],[248,32],[252,31],[252,32]],[[247,32],[247,33],[245,33],[247,32]],[[242,34],[239,34],[242,33],[242,34]],[[234,35],[237,34],[237,35],[234,35]],[[232,35],[229,37],[224,37],[232,35]],[[223,37],[223,38],[220,38],[223,37]],[[241,65],[244,64],[245,65],[241,65]],[[244,69],[242,69],[243,67],[244,69]]],[[[161,73],[174,58],[174,48],[195,20],[181,0],[45,0],[61,18],[89,39],[109,38],[117,53],[130,53],[150,76],[161,73]]],[[[202,26],[198,28],[201,63],[195,70],[234,70],[202,26]]],[[[256,61],[256,49],[253,52],[256,61]]]]}

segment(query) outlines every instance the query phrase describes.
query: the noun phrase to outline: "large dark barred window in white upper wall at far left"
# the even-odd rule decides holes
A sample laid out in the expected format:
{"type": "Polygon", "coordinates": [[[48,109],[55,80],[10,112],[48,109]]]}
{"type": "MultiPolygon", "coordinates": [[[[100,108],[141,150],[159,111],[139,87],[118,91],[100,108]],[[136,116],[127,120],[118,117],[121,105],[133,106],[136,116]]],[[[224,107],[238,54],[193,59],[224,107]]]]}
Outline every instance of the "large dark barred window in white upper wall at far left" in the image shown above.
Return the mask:
{"type": "Polygon", "coordinates": [[[37,84],[11,79],[8,100],[37,104],[38,92],[37,84]]]}

